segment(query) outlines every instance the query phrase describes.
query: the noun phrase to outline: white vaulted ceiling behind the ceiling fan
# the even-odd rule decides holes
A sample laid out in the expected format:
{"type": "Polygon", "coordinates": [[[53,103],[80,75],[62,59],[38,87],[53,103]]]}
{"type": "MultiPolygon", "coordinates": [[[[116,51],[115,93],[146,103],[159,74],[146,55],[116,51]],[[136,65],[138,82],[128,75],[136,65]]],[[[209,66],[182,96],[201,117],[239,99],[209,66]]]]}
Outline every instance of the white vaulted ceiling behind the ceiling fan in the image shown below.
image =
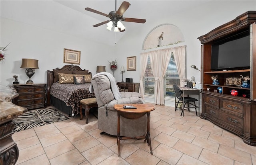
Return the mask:
{"type": "MultiPolygon", "coordinates": [[[[115,0],[1,0],[1,17],[23,22],[40,28],[84,37],[107,45],[115,45],[122,37],[143,26],[152,25],[156,20],[166,18],[209,1],[202,0],[126,0],[131,5],[124,13],[127,18],[146,19],[145,24],[123,22],[126,31],[114,32],[106,24],[93,25],[109,18],[88,12],[89,7],[108,14],[115,10],[115,0]]],[[[116,8],[122,4],[117,0],[116,8]]],[[[162,22],[161,24],[171,23],[162,22]]],[[[152,27],[154,28],[154,27],[152,27]]]]}

